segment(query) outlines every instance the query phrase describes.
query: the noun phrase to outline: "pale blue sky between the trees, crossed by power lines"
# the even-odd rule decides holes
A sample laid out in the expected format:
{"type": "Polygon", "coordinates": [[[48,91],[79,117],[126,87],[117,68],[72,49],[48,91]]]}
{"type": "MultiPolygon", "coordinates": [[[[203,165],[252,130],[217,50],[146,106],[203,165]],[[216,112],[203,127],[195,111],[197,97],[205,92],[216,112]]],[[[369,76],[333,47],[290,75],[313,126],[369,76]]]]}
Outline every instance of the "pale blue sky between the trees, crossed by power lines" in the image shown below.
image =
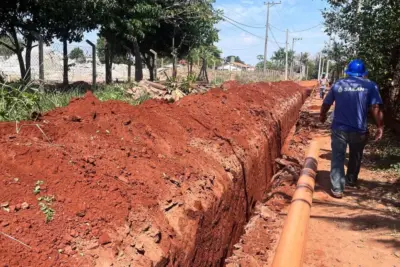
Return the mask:
{"type": "MultiPolygon", "coordinates": [[[[279,0],[274,2],[279,2],[279,0]]],[[[296,53],[309,52],[315,56],[321,51],[325,42],[328,41],[323,25],[304,32],[295,33],[295,31],[309,29],[323,23],[321,10],[326,6],[326,1],[323,0],[282,0],[281,4],[272,6],[268,59],[273,51],[279,49],[278,45],[285,47],[286,29],[289,29],[289,48],[292,46],[293,38],[302,38],[301,41],[295,42],[296,53]],[[275,36],[278,44],[272,35],[275,36]]],[[[223,10],[224,16],[230,19],[256,27],[247,27],[233,22],[250,32],[248,33],[226,21],[217,25],[220,30],[217,46],[223,51],[223,56],[239,56],[247,64],[255,65],[258,62],[257,55],[264,54],[267,17],[267,6],[264,5],[264,0],[217,0],[215,8],[223,10]]]]}

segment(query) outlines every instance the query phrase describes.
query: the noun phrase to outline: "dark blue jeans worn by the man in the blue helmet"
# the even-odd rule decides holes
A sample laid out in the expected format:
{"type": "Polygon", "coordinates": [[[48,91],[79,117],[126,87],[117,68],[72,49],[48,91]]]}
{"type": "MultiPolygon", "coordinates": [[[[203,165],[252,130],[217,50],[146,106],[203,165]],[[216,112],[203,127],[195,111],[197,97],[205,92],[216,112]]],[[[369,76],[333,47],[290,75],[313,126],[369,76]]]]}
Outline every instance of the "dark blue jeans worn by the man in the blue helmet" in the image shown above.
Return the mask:
{"type": "Polygon", "coordinates": [[[346,183],[357,182],[367,139],[367,134],[332,130],[331,183],[333,191],[343,192],[346,183]],[[347,175],[345,175],[347,145],[349,145],[350,155],[347,175]]]}

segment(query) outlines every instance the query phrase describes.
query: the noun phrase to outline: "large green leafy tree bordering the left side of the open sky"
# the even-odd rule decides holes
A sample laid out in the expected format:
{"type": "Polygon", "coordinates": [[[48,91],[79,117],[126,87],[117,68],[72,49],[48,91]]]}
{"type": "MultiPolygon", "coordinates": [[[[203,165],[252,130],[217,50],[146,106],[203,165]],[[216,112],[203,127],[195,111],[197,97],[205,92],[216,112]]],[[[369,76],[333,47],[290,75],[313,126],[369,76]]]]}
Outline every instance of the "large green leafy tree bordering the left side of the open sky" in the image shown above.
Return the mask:
{"type": "MultiPolygon", "coordinates": [[[[185,57],[195,47],[212,45],[218,40],[214,24],[217,15],[213,1],[186,0],[123,0],[110,4],[101,23],[100,35],[105,38],[106,80],[110,82],[113,53],[125,49],[135,56],[135,80],[143,78],[142,58],[153,73],[154,57],[172,57],[174,76],[177,58],[185,57]],[[124,16],[121,16],[124,14],[124,16]],[[108,51],[108,52],[107,52],[108,51]]],[[[151,77],[153,78],[153,77],[151,77]]]]}

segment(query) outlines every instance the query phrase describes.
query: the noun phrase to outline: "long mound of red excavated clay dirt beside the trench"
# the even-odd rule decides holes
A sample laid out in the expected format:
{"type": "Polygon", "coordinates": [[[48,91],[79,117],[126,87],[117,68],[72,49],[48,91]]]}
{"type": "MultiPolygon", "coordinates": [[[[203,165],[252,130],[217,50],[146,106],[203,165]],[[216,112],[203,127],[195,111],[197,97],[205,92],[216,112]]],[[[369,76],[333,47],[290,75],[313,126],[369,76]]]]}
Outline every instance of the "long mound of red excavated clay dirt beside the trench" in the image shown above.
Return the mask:
{"type": "Polygon", "coordinates": [[[0,231],[31,247],[0,234],[1,266],[223,265],[306,94],[228,87],[138,107],[88,93],[1,123],[0,231]]]}

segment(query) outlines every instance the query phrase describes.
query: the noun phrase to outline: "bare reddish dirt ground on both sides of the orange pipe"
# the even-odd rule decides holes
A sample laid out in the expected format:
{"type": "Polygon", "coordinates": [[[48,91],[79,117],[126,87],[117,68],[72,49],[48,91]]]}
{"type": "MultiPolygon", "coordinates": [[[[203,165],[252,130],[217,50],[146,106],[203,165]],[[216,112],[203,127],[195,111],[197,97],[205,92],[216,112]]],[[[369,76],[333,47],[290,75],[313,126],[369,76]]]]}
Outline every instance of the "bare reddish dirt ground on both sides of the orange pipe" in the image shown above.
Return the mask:
{"type": "MultiPolygon", "coordinates": [[[[303,83],[308,88],[313,83],[303,83]]],[[[302,108],[294,134],[282,151],[303,162],[310,140],[320,138],[319,174],[305,250],[305,267],[399,267],[400,177],[389,171],[400,161],[400,139],[385,133],[380,143],[366,148],[361,187],[346,190],[342,200],[330,191],[329,123],[318,123],[321,100],[310,97],[302,108]],[[390,147],[388,149],[388,147],[390,147]],[[380,171],[376,170],[376,168],[380,171]]],[[[283,172],[272,191],[259,203],[246,233],[235,245],[229,267],[271,266],[298,175],[283,172]]]]}

